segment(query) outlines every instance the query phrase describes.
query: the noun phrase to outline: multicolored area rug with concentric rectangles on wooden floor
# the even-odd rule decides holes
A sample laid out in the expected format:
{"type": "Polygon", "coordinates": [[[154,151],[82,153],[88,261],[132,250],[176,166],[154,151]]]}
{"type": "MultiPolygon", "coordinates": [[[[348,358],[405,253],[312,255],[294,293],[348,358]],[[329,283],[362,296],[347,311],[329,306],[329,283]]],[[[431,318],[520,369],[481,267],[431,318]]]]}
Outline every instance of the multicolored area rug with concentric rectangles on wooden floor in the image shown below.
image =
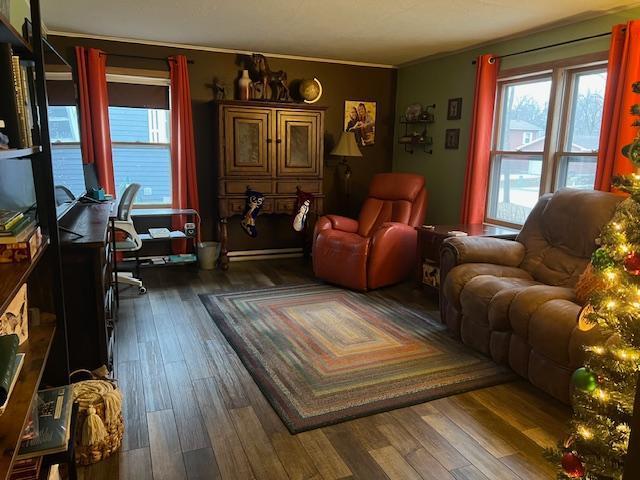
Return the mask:
{"type": "Polygon", "coordinates": [[[200,296],[292,433],[515,378],[426,311],[321,284],[200,296]]]}

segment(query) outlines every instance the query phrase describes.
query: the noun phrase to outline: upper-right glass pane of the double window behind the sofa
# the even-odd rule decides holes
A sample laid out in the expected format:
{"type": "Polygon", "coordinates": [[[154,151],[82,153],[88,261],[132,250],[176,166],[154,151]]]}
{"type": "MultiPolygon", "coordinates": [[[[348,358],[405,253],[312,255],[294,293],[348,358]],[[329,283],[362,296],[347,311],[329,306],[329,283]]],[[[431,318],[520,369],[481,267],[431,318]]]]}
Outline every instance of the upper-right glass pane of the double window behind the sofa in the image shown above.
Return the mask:
{"type": "Polygon", "coordinates": [[[606,83],[606,70],[575,74],[565,151],[598,151],[606,83]]]}

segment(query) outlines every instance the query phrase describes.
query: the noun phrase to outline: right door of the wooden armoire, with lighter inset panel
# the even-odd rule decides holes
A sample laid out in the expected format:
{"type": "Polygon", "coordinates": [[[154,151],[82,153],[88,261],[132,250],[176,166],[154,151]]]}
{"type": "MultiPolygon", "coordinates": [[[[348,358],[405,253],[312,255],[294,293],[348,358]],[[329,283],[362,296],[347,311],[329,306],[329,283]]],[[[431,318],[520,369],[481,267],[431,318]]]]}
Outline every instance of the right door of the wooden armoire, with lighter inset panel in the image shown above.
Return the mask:
{"type": "Polygon", "coordinates": [[[317,176],[321,167],[320,114],[278,111],[278,176],[317,176]]]}

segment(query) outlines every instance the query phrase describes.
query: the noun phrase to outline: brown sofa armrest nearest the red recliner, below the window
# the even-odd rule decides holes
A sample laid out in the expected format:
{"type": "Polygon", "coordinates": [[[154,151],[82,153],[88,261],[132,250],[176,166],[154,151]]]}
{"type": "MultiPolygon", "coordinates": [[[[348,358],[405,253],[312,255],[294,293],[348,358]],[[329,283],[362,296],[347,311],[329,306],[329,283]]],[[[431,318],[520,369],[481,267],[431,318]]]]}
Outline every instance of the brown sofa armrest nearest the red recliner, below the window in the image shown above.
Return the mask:
{"type": "Polygon", "coordinates": [[[449,255],[455,265],[491,263],[518,267],[524,260],[525,248],[519,242],[492,237],[451,237],[442,244],[441,257],[449,255]]]}

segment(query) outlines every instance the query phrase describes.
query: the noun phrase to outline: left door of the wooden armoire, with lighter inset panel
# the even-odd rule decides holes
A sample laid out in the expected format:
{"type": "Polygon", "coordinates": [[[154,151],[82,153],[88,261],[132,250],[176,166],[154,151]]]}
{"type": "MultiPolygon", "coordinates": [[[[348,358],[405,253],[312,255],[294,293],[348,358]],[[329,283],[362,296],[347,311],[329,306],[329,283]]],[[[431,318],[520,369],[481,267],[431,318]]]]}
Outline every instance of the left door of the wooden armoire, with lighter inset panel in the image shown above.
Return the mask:
{"type": "Polygon", "coordinates": [[[271,110],[225,109],[225,174],[271,175],[271,110]]]}

